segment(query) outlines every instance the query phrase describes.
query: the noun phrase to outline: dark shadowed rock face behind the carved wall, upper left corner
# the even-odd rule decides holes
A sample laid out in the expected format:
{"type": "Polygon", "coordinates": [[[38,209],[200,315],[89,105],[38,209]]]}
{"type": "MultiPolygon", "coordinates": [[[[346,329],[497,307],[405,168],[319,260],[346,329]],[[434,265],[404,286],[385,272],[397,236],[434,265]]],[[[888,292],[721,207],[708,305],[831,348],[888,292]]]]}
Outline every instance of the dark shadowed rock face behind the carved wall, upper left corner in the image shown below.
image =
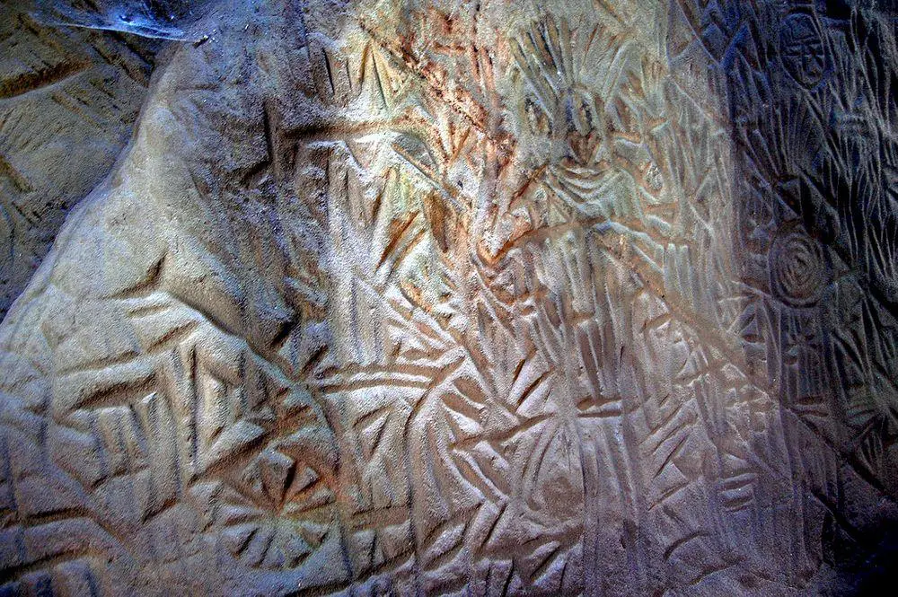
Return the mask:
{"type": "Polygon", "coordinates": [[[128,142],[159,47],[22,4],[0,5],[0,318],[128,142]]]}

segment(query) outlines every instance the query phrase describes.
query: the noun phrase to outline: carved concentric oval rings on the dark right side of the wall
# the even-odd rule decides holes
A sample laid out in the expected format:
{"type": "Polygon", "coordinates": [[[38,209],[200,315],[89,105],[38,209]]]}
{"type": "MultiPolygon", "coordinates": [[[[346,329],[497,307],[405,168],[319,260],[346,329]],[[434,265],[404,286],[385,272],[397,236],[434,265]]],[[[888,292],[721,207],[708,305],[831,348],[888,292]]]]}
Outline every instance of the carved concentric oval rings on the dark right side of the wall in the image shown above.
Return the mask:
{"type": "Polygon", "coordinates": [[[814,305],[829,281],[823,248],[797,224],[779,230],[770,247],[768,265],[770,291],[789,306],[814,305]]]}

